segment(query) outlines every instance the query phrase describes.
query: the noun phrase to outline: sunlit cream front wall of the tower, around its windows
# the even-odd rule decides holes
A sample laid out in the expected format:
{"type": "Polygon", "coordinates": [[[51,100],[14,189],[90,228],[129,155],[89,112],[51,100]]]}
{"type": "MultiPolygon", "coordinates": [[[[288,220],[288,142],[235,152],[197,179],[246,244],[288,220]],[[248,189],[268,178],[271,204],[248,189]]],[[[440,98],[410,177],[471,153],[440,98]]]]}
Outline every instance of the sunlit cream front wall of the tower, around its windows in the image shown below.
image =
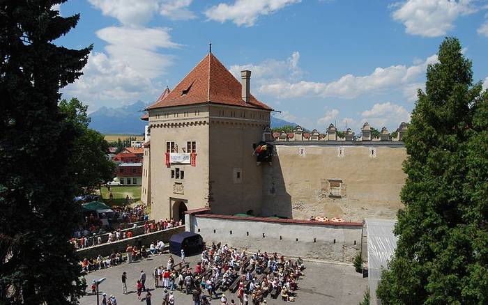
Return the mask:
{"type": "Polygon", "coordinates": [[[151,125],[151,218],[170,219],[171,203],[184,201],[188,210],[206,205],[208,195],[208,106],[172,107],[149,111],[151,125]],[[187,141],[197,142],[196,166],[165,165],[166,142],[174,141],[183,153],[187,141]],[[171,169],[185,171],[183,180],[171,179],[171,169]],[[174,193],[174,182],[181,182],[184,194],[174,193]]]}

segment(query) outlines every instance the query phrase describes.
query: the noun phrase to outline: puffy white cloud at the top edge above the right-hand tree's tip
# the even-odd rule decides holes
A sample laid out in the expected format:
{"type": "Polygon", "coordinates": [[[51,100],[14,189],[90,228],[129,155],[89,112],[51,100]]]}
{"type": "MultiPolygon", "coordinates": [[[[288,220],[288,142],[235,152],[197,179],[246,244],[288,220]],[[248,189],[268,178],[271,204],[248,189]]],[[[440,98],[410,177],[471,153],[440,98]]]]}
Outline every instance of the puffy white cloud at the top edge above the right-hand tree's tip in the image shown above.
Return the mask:
{"type": "Polygon", "coordinates": [[[444,36],[459,16],[475,13],[471,0],[408,0],[395,3],[393,19],[402,22],[406,33],[425,37],[444,36]]]}

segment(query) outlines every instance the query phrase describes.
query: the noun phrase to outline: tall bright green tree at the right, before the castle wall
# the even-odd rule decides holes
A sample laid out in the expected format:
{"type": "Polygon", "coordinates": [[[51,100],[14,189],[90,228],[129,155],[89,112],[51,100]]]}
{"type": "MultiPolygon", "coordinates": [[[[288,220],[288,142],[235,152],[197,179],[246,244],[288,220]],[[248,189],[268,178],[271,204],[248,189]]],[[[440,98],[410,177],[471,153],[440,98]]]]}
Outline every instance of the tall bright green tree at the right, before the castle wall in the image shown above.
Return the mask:
{"type": "Polygon", "coordinates": [[[488,93],[456,38],[427,68],[404,138],[409,157],[383,304],[488,304],[488,93]]]}

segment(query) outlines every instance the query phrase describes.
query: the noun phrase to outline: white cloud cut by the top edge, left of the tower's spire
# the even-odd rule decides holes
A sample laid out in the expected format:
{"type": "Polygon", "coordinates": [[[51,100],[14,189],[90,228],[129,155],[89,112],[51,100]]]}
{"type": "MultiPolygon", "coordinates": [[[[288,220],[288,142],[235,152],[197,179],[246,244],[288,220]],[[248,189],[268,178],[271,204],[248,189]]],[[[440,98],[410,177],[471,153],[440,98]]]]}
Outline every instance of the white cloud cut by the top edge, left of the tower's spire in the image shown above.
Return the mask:
{"type": "Polygon", "coordinates": [[[192,0],[89,0],[91,5],[105,16],[114,17],[126,26],[144,25],[154,13],[169,19],[192,19],[195,14],[188,10],[192,0]]]}

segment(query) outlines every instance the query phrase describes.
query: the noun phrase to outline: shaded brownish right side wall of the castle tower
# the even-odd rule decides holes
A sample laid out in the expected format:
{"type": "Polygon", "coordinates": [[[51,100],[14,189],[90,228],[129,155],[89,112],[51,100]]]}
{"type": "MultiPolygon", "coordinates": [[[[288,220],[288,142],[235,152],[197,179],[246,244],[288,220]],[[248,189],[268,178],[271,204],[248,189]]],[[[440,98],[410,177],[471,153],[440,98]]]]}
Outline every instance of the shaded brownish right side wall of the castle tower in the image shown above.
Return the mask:
{"type": "Polygon", "coordinates": [[[264,127],[270,124],[270,112],[238,107],[211,107],[209,133],[210,181],[216,214],[261,213],[262,168],[252,155],[253,143],[259,143],[264,127]],[[231,116],[232,115],[232,116],[231,116]],[[241,172],[241,178],[236,172],[241,172]]]}

